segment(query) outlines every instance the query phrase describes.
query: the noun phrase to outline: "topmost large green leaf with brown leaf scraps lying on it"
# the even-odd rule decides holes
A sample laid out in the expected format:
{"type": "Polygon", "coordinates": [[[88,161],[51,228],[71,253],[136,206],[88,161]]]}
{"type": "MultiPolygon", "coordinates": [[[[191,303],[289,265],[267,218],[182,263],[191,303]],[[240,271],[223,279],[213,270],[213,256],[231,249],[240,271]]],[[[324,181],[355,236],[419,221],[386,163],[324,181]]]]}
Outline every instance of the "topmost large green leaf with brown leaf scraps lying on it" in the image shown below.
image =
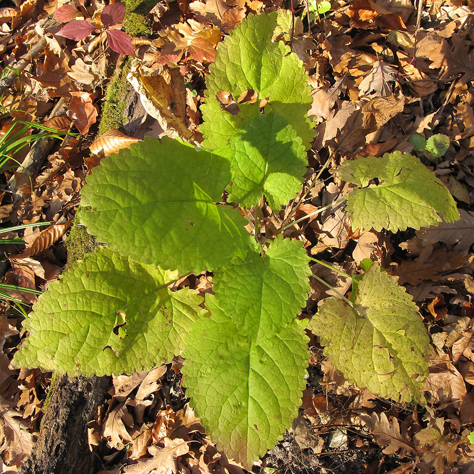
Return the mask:
{"type": "Polygon", "coordinates": [[[218,45],[216,60],[209,67],[207,99],[201,106],[205,146],[227,146],[235,131],[258,115],[260,99],[268,98],[266,110],[271,107],[284,117],[302,138],[305,149],[309,148],[315,132],[307,116],[312,103],[308,77],[288,46],[272,42],[276,26],[276,12],[249,15],[218,45]],[[249,89],[258,93],[258,99],[239,104],[238,115],[222,110],[216,100],[218,92],[230,92],[236,100],[249,89]]]}

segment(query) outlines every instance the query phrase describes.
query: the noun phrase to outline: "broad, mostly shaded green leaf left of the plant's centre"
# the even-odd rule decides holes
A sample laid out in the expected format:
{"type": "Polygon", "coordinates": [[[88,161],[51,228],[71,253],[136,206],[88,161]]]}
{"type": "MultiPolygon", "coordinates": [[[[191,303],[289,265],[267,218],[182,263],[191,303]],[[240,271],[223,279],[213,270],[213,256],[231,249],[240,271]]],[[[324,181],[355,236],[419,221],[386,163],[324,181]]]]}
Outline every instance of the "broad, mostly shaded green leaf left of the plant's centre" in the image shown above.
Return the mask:
{"type": "Polygon", "coordinates": [[[229,162],[203,148],[145,137],[105,158],[88,176],[81,220],[109,248],[181,273],[245,255],[240,211],[219,202],[229,162]]]}

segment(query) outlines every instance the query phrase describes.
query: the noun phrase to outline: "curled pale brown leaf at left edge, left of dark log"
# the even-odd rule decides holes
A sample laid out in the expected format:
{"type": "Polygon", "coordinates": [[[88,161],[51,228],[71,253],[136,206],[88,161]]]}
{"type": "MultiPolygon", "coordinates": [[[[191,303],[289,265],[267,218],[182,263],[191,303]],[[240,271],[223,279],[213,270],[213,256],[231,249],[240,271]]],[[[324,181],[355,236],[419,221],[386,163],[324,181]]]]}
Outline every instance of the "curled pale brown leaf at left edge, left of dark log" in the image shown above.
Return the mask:
{"type": "Polygon", "coordinates": [[[0,452],[3,460],[9,465],[20,466],[34,445],[35,438],[28,431],[22,413],[0,397],[0,452]]]}

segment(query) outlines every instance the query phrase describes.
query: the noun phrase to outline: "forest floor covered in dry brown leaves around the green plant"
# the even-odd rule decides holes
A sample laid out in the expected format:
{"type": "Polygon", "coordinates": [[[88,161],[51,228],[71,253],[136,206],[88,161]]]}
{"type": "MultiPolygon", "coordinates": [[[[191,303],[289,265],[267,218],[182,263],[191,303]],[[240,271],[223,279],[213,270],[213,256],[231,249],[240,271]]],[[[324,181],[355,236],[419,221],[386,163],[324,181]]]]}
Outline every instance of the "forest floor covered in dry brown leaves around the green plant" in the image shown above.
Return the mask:
{"type": "MultiPolygon", "coordinates": [[[[133,24],[127,4],[126,20],[109,30],[123,28],[133,43],[118,36],[114,51],[107,46],[110,38],[100,36],[105,3],[18,2],[3,0],[0,8],[0,68],[2,78],[14,79],[3,89],[0,103],[2,143],[42,132],[19,121],[75,133],[43,140],[42,145],[26,141],[14,156],[6,150],[0,168],[1,227],[50,222],[2,235],[21,238],[23,244],[2,243],[5,259],[0,276],[5,284],[44,291],[60,276],[68,255],[80,258],[90,246],[84,229],[73,223],[81,187],[104,154],[145,135],[188,134],[199,142],[199,107],[218,43],[248,14],[290,10],[291,5],[279,0],[142,2],[146,22],[135,18],[133,24]],[[62,8],[65,5],[69,7],[62,8]],[[66,23],[81,18],[98,29],[79,40],[58,34],[66,23]],[[131,62],[119,54],[130,47],[136,54],[131,62]],[[120,77],[129,68],[131,76],[139,78],[134,87],[145,107],[133,137],[123,133],[127,111],[120,108],[131,89],[120,77]],[[170,80],[176,68],[182,83],[170,80]],[[116,86],[106,93],[112,76],[116,86]],[[20,135],[12,139],[17,131],[20,135]],[[27,156],[30,149],[36,153],[34,160],[29,160],[31,153],[27,156]]],[[[309,5],[311,11],[314,6],[309,5]]],[[[347,213],[338,208],[288,229],[287,234],[302,241],[310,255],[346,273],[371,258],[398,276],[431,337],[427,403],[402,406],[350,385],[323,357],[319,340],[313,337],[299,417],[253,470],[474,473],[474,446],[467,438],[474,427],[473,4],[332,0],[325,14],[310,12],[311,28],[307,17],[301,20],[306,4],[295,3],[294,8],[292,38],[286,39],[308,72],[313,97],[309,115],[317,131],[307,177],[328,159],[330,169],[353,156],[410,152],[448,187],[461,219],[436,229],[375,232],[352,228],[347,213]],[[429,139],[437,134],[449,139],[442,156],[413,150],[410,137],[429,139]]],[[[223,106],[228,105],[228,98],[222,100],[223,106]]],[[[5,150],[2,143],[0,150],[5,150]]],[[[325,171],[297,218],[346,192],[347,185],[325,171]]],[[[267,208],[264,226],[271,229],[275,219],[279,217],[267,208]]],[[[349,290],[350,280],[334,270],[317,264],[315,270],[337,291],[349,290]]],[[[181,284],[204,295],[212,291],[212,275],[190,276],[181,284]]],[[[335,294],[315,279],[311,288],[302,317],[317,312],[318,305],[335,294]]],[[[6,291],[21,304],[0,300],[0,472],[4,473],[16,472],[29,456],[52,377],[39,369],[9,367],[25,337],[20,308],[30,311],[37,295],[6,291]]],[[[100,472],[244,472],[215,448],[194,418],[180,365],[177,356],[148,373],[113,377],[109,397],[88,428],[90,446],[101,458],[100,472]],[[187,451],[177,447],[174,457],[160,458],[156,446],[172,447],[176,439],[188,442],[187,451]]]]}

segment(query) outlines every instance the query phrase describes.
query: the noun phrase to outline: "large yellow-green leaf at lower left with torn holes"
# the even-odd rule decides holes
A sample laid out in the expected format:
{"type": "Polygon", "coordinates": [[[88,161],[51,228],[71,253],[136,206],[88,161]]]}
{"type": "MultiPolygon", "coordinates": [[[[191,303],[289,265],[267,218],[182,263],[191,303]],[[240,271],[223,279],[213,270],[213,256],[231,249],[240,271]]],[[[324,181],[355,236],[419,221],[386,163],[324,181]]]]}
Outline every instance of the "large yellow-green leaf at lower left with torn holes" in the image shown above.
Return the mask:
{"type": "Polygon", "coordinates": [[[203,312],[193,291],[166,288],[176,278],[98,248],[41,295],[23,323],[30,335],[13,364],[118,375],[170,361],[203,312]]]}

